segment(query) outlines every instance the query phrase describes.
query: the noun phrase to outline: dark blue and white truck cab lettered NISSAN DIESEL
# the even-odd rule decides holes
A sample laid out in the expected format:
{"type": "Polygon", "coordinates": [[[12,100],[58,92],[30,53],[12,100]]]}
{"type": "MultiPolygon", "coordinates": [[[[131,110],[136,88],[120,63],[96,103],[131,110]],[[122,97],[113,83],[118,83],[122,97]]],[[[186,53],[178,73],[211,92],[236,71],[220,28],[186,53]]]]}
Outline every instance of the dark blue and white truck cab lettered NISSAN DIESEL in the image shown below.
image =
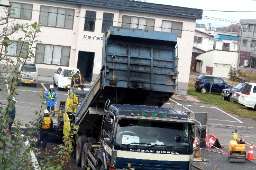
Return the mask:
{"type": "MultiPolygon", "coordinates": [[[[113,104],[105,111],[97,158],[102,169],[190,169],[194,121],[176,109],[113,104]]],[[[93,163],[93,160],[97,162],[93,163]]]]}

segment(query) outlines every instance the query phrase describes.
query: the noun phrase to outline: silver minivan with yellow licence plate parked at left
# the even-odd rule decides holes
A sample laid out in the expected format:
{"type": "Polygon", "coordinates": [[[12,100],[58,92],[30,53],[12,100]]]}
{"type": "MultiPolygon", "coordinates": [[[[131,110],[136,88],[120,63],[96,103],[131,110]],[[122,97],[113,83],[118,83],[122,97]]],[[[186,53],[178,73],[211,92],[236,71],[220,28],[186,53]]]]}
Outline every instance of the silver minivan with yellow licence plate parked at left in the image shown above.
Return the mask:
{"type": "Polygon", "coordinates": [[[38,68],[34,63],[25,63],[21,66],[20,84],[31,84],[36,87],[38,85],[38,68]]]}

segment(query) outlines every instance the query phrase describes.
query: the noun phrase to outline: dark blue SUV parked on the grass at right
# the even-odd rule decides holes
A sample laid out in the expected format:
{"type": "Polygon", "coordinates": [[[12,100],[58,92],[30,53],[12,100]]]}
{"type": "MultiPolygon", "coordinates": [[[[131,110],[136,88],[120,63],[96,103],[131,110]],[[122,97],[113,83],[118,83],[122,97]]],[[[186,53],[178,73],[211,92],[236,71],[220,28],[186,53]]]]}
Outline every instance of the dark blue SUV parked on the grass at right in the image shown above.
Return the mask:
{"type": "Polygon", "coordinates": [[[227,84],[221,77],[199,75],[196,78],[195,89],[197,92],[206,93],[211,89],[211,92],[221,93],[224,88],[233,88],[233,86],[227,84]]]}

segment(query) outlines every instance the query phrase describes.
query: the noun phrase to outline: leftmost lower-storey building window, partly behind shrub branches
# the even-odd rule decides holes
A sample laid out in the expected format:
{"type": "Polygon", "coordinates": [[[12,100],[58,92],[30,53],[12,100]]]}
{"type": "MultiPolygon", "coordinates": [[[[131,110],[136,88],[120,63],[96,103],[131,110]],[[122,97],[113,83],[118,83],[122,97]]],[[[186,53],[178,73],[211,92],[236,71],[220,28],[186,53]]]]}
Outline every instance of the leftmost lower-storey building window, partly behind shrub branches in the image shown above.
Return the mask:
{"type": "Polygon", "coordinates": [[[8,47],[6,47],[6,55],[26,57],[28,55],[29,43],[12,41],[8,47]],[[21,54],[21,55],[20,55],[21,54]]]}

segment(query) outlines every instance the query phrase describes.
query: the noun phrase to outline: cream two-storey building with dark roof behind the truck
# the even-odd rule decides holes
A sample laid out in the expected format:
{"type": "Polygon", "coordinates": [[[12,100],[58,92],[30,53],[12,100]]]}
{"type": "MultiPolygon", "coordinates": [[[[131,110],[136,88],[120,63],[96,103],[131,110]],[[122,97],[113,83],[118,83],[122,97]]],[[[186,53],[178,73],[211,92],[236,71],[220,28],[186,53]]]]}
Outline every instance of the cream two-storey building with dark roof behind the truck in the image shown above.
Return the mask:
{"type": "MultiPolygon", "coordinates": [[[[2,0],[0,4],[8,4],[2,0]]],[[[178,34],[178,93],[186,94],[196,19],[202,9],[128,0],[15,0],[13,23],[41,23],[34,51],[40,76],[53,76],[60,66],[77,67],[94,82],[102,66],[103,34],[111,25],[178,34]]],[[[0,6],[0,15],[4,9],[0,6]]],[[[21,50],[14,34],[7,49],[11,57],[21,50]]]]}

